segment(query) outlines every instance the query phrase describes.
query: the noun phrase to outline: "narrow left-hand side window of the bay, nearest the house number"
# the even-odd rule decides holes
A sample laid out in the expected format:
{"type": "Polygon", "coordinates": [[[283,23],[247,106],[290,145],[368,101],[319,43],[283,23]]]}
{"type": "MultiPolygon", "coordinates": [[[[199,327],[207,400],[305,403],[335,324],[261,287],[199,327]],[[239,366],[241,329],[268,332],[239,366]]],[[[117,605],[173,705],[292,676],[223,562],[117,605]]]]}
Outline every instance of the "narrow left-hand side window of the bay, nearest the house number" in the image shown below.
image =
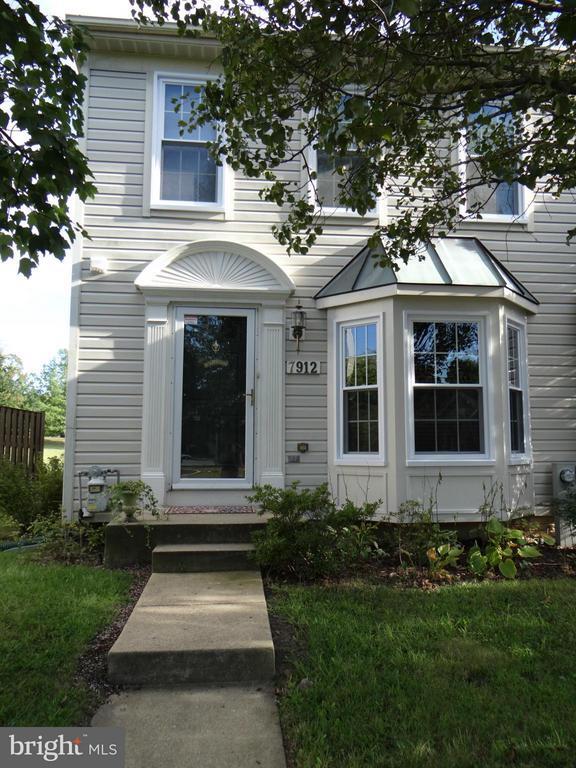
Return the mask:
{"type": "Polygon", "coordinates": [[[342,455],[381,453],[376,321],[340,326],[342,455]]]}

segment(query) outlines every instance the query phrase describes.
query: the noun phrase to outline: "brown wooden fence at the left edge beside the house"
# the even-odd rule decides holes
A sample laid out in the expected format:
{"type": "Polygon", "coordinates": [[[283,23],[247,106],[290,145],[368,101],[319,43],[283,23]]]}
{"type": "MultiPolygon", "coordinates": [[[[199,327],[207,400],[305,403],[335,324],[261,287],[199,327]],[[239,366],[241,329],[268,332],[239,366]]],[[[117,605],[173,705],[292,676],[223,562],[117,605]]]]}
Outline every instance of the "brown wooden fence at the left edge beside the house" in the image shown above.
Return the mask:
{"type": "Polygon", "coordinates": [[[44,450],[44,413],[0,405],[0,459],[33,471],[44,450]]]}

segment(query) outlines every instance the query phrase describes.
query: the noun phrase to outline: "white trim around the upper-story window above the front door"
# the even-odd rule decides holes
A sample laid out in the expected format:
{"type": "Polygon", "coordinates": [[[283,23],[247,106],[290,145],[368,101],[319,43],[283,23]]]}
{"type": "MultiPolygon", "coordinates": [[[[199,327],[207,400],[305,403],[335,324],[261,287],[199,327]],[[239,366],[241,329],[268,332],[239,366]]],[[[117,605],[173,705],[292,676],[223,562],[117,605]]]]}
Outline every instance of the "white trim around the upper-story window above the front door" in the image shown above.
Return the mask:
{"type": "MultiPolygon", "coordinates": [[[[214,203],[193,202],[186,200],[162,200],[161,191],[161,163],[162,141],[164,138],[164,85],[167,83],[187,83],[190,85],[204,85],[210,80],[217,80],[217,75],[181,72],[155,72],[153,88],[153,120],[152,120],[152,152],[150,159],[150,208],[156,210],[171,211],[210,211],[223,212],[227,200],[225,189],[226,177],[223,165],[217,166],[216,185],[218,200],[214,203]]],[[[182,139],[185,141],[184,137],[182,139]]]]}

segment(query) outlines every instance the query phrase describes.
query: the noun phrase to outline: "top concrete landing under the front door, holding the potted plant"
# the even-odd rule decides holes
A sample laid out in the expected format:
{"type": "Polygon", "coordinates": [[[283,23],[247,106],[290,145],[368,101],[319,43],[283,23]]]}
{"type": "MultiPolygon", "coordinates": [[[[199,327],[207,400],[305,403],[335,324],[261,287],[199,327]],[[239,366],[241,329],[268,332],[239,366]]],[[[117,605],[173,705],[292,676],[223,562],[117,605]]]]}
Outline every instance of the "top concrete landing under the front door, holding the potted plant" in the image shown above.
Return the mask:
{"type": "Polygon", "coordinates": [[[152,550],[159,544],[248,544],[254,531],[265,525],[266,518],[257,514],[170,515],[134,523],[114,520],[106,526],[104,563],[108,568],[150,563],[152,550]]]}

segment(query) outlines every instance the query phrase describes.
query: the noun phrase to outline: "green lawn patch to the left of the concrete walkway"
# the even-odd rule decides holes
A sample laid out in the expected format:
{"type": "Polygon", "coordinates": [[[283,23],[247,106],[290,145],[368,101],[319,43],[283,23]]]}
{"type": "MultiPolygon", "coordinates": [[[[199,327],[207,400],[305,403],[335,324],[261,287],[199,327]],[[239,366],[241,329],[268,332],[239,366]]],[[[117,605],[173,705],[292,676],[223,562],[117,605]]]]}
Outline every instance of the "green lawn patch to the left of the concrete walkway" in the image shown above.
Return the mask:
{"type": "Polygon", "coordinates": [[[78,656],[128,597],[126,573],[0,553],[0,725],[71,726],[90,696],[78,656]]]}

